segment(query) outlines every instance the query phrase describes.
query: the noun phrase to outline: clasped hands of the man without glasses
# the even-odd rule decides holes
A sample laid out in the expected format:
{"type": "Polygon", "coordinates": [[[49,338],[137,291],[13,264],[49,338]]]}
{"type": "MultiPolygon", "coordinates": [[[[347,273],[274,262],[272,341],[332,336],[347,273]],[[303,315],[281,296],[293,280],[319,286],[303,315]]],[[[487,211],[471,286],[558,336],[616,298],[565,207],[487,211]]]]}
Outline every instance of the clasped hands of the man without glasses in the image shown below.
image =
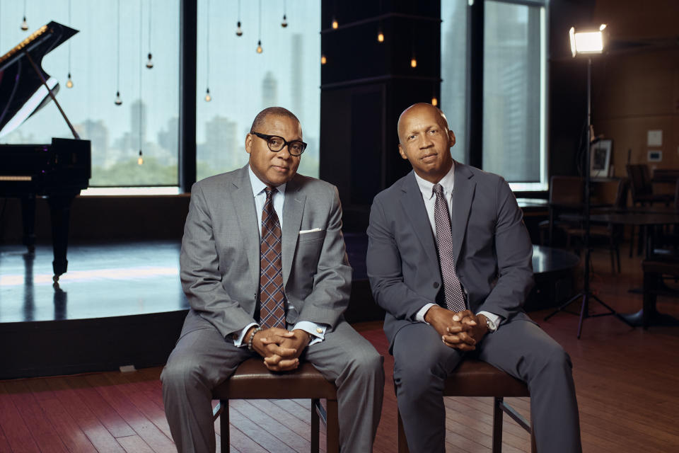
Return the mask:
{"type": "Polygon", "coordinates": [[[455,312],[432,306],[424,320],[441,335],[444,345],[461,351],[475,350],[488,332],[485,316],[477,316],[469,310],[455,312]]]}

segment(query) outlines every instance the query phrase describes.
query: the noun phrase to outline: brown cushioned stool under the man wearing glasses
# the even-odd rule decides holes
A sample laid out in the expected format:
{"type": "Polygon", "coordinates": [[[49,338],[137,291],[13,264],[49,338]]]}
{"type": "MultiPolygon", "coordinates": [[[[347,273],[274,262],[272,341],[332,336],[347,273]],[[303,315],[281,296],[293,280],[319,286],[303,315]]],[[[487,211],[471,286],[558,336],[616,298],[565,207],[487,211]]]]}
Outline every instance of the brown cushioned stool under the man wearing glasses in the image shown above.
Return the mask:
{"type": "Polygon", "coordinates": [[[327,381],[317,369],[308,362],[302,362],[298,369],[285,373],[273,373],[265,367],[262,360],[245,360],[233,375],[212,391],[212,398],[219,399],[214,408],[214,420],[218,417],[221,428],[221,452],[228,453],[229,399],[281,399],[311,398],[311,452],[318,453],[320,419],[326,425],[326,451],[340,451],[340,425],[337,418],[337,388],[327,381]],[[320,399],[327,400],[327,413],[320,405],[320,399]]]}

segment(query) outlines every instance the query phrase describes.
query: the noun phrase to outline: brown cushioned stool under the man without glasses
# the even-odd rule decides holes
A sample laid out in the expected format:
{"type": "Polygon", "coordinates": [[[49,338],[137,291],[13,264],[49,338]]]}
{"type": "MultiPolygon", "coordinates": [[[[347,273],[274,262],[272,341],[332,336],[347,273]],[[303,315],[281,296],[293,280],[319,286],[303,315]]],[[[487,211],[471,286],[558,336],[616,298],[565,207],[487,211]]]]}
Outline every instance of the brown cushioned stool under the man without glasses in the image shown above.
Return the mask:
{"type": "MultiPolygon", "coordinates": [[[[530,396],[525,383],[481,360],[465,359],[446,379],[443,396],[492,396],[493,402],[493,453],[502,450],[502,413],[505,412],[521,428],[530,432],[531,451],[535,453],[535,435],[528,421],[504,402],[504,397],[530,396]]],[[[408,453],[401,414],[398,413],[398,453],[408,453]]]]}

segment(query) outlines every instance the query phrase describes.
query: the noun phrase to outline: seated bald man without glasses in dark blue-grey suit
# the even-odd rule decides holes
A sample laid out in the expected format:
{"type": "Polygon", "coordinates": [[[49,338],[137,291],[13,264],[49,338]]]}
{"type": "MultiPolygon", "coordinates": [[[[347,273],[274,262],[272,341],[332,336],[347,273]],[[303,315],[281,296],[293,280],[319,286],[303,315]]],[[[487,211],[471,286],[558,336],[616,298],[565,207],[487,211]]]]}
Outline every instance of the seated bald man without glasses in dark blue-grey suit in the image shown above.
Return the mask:
{"type": "Polygon", "coordinates": [[[581,451],[570,359],[521,309],[533,249],[509,185],[453,161],[432,105],[407,108],[398,136],[413,171],[373,200],[367,265],[410,451],[445,451],[443,383],[468,354],[528,383],[538,452],[581,451]]]}

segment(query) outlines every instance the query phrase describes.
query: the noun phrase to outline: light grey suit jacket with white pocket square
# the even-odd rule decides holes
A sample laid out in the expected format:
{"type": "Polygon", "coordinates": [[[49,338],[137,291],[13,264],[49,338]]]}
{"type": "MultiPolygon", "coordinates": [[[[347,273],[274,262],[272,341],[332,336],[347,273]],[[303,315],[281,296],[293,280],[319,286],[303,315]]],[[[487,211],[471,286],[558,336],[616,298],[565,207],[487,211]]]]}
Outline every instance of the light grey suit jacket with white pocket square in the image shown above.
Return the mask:
{"type": "MultiPolygon", "coordinates": [[[[296,175],[286,185],[283,211],[283,285],[295,307],[286,321],[333,328],[349,304],[352,281],[337,188],[296,175]],[[311,229],[320,231],[299,234],[311,229]]],[[[193,185],[180,256],[182,287],[191,305],[185,333],[204,325],[191,322],[196,314],[225,338],[255,322],[260,217],[248,166],[193,185]]]]}

